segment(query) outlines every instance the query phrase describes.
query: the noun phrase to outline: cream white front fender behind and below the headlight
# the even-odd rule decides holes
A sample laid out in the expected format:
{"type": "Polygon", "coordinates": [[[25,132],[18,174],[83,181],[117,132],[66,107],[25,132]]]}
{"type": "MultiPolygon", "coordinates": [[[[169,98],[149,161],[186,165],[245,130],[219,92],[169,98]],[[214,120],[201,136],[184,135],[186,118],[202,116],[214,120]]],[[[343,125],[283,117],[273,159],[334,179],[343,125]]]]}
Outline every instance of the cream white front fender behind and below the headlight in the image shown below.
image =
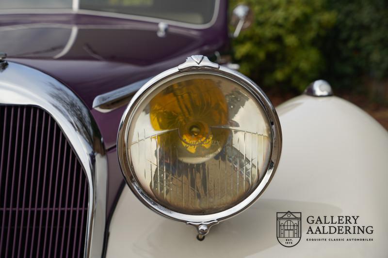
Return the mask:
{"type": "Polygon", "coordinates": [[[281,159],[254,205],[212,228],[200,242],[194,227],[152,212],[125,187],[110,224],[107,258],[387,257],[387,131],[335,96],[302,95],[276,110],[283,132],[281,159]],[[301,238],[292,247],[276,238],[276,212],[287,211],[302,215],[301,238]],[[349,227],[370,226],[372,233],[307,234],[309,227],[315,232],[339,226],[309,224],[308,216],[310,222],[318,216],[337,222],[338,216],[358,216],[349,227]]]}

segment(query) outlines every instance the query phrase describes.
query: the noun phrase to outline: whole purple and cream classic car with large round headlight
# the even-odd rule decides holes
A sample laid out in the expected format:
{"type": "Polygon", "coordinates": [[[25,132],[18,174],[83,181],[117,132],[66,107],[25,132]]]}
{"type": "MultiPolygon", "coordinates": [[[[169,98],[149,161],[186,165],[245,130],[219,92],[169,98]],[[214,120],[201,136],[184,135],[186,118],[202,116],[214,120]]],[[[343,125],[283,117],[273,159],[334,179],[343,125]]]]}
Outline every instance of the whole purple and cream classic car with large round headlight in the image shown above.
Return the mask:
{"type": "Polygon", "coordinates": [[[387,131],[323,80],[275,109],[220,55],[249,12],[2,2],[0,257],[387,257],[387,131]]]}

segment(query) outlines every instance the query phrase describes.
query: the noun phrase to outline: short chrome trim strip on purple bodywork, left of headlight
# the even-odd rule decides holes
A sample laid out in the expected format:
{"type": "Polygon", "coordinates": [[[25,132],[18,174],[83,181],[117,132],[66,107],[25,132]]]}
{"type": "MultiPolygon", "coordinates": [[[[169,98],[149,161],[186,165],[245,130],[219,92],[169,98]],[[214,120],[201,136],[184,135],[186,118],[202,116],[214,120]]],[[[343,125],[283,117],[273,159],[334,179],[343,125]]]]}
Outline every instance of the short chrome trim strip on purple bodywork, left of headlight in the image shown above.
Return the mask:
{"type": "Polygon", "coordinates": [[[131,83],[114,91],[98,95],[93,100],[93,108],[102,113],[108,113],[120,106],[128,105],[130,97],[133,96],[152,77],[131,83]]]}

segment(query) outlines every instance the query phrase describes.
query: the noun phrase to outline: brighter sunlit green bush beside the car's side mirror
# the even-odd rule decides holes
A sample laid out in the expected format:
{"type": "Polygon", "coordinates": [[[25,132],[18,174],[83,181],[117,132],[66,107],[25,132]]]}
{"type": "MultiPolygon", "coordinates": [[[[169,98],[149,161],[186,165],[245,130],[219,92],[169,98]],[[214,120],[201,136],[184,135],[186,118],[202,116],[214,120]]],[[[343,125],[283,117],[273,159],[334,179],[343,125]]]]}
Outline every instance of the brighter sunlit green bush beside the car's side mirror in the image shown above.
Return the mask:
{"type": "MultiPolygon", "coordinates": [[[[302,91],[322,74],[326,31],[336,20],[324,0],[245,0],[254,23],[233,41],[241,72],[263,87],[302,91]]],[[[232,0],[233,8],[238,0],[232,0]]]]}

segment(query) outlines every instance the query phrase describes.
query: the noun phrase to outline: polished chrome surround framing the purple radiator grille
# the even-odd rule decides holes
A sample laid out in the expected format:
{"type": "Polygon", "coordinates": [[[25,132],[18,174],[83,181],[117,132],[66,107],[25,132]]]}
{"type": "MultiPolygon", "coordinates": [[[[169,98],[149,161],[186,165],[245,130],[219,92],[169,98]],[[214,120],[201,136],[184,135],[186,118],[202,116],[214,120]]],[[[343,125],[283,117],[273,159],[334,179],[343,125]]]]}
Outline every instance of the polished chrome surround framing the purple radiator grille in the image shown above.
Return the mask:
{"type": "Polygon", "coordinates": [[[0,73],[0,104],[33,105],[61,127],[85,169],[89,183],[84,257],[101,257],[106,223],[107,158],[90,111],[65,85],[38,70],[9,62],[0,73]]]}

